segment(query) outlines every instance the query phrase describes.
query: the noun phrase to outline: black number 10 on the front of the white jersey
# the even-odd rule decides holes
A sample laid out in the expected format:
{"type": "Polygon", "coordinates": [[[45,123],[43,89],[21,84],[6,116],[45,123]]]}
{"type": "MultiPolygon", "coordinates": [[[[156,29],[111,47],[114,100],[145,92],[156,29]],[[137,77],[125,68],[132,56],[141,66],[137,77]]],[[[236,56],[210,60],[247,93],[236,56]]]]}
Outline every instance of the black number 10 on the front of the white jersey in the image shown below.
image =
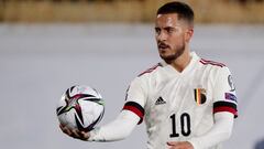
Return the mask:
{"type": "MultiPolygon", "coordinates": [[[[172,126],[173,126],[173,132],[169,135],[170,138],[173,137],[179,137],[179,134],[176,130],[176,116],[173,114],[170,117],[172,119],[172,126]]],[[[184,113],[179,117],[180,120],[180,129],[182,135],[187,137],[190,135],[190,116],[187,113],[184,113]]]]}

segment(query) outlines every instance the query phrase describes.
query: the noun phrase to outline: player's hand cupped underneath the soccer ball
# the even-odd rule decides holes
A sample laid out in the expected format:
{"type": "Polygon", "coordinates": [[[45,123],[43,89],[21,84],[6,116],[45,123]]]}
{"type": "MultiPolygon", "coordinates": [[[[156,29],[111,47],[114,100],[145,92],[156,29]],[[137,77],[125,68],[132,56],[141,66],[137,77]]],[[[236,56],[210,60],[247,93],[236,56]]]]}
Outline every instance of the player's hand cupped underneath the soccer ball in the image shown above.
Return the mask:
{"type": "Polygon", "coordinates": [[[88,140],[90,137],[89,132],[79,131],[77,129],[69,129],[68,127],[63,126],[62,124],[59,125],[59,128],[62,129],[62,131],[64,134],[68,135],[69,137],[73,137],[75,139],[88,140]]]}

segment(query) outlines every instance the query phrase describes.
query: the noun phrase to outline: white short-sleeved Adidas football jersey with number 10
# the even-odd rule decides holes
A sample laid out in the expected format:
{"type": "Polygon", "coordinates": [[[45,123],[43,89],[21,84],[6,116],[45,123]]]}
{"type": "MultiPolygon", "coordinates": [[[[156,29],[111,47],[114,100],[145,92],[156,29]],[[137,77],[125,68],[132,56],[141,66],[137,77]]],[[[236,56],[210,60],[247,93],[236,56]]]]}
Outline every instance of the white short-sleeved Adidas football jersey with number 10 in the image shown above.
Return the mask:
{"type": "Polygon", "coordinates": [[[130,84],[123,109],[144,119],[147,149],[165,149],[167,141],[204,135],[213,126],[215,113],[238,115],[229,68],[194,52],[182,73],[162,62],[139,75],[130,84]]]}

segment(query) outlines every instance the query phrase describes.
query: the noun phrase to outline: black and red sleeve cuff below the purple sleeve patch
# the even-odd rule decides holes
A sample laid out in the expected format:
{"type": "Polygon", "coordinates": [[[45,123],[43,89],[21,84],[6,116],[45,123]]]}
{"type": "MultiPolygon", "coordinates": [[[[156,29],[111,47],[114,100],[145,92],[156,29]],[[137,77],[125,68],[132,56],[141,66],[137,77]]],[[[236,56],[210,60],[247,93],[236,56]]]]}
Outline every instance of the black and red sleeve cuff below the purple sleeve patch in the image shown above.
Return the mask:
{"type": "Polygon", "coordinates": [[[213,104],[213,114],[220,113],[220,111],[229,111],[234,115],[234,118],[238,117],[238,109],[237,109],[237,105],[234,103],[216,102],[213,104]]]}

